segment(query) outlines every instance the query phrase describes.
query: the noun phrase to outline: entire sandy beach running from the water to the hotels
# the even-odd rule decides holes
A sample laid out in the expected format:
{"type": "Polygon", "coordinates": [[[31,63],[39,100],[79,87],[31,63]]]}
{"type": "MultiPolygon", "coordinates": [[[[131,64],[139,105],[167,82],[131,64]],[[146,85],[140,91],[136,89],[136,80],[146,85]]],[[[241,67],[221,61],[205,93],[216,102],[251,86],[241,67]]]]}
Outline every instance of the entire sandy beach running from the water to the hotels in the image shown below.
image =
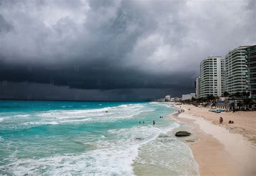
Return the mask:
{"type": "Polygon", "coordinates": [[[172,116],[191,125],[193,135],[199,138],[188,145],[200,175],[256,175],[256,112],[216,114],[193,105],[181,105],[181,109],[185,113],[172,116]],[[219,117],[224,118],[223,124],[219,117]],[[228,124],[230,120],[234,124],[228,124]]]}

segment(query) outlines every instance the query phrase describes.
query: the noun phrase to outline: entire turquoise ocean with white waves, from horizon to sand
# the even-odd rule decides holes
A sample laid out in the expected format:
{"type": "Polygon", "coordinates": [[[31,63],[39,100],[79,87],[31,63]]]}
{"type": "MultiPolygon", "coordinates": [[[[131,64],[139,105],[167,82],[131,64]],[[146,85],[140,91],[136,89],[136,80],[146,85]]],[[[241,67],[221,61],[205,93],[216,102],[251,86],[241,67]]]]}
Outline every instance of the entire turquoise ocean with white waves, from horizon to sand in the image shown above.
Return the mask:
{"type": "Polygon", "coordinates": [[[174,136],[175,111],[164,102],[0,101],[0,175],[199,175],[174,136]]]}

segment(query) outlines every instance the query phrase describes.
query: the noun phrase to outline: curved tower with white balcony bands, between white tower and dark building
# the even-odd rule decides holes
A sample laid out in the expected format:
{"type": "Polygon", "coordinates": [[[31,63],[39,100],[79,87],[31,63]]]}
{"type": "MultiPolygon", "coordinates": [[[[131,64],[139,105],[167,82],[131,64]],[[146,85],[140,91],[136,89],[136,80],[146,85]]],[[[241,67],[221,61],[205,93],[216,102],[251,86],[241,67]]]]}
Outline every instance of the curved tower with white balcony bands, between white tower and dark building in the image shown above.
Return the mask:
{"type": "Polygon", "coordinates": [[[225,90],[230,94],[246,91],[246,60],[245,49],[239,46],[225,55],[225,90]]]}

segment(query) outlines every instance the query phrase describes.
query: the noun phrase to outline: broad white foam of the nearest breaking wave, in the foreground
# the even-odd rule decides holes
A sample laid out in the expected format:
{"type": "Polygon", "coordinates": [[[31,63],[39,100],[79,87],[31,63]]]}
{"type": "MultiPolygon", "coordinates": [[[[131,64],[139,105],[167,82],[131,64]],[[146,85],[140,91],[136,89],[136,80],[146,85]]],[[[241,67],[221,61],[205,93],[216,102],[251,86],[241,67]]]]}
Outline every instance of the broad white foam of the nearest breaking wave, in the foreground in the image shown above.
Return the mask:
{"type": "MultiPolygon", "coordinates": [[[[178,124],[170,125],[172,130],[178,124]]],[[[95,150],[74,155],[51,156],[42,159],[17,159],[16,154],[10,156],[12,162],[0,166],[16,175],[44,174],[96,174],[96,175],[134,175],[132,163],[138,156],[140,146],[151,142],[163,131],[152,125],[135,126],[130,129],[115,129],[109,132],[118,140],[99,140],[95,150]]],[[[103,136],[102,136],[103,137],[103,136]]],[[[104,138],[104,137],[103,137],[104,138]]]]}

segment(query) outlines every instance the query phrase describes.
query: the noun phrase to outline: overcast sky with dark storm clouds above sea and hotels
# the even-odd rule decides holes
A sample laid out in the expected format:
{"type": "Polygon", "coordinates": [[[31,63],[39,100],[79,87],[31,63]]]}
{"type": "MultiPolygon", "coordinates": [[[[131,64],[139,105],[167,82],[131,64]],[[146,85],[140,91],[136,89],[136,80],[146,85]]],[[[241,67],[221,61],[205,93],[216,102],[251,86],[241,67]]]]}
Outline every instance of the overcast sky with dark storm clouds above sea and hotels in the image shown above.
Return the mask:
{"type": "Polygon", "coordinates": [[[256,43],[255,1],[0,0],[0,98],[194,92],[199,63],[256,43]]]}

